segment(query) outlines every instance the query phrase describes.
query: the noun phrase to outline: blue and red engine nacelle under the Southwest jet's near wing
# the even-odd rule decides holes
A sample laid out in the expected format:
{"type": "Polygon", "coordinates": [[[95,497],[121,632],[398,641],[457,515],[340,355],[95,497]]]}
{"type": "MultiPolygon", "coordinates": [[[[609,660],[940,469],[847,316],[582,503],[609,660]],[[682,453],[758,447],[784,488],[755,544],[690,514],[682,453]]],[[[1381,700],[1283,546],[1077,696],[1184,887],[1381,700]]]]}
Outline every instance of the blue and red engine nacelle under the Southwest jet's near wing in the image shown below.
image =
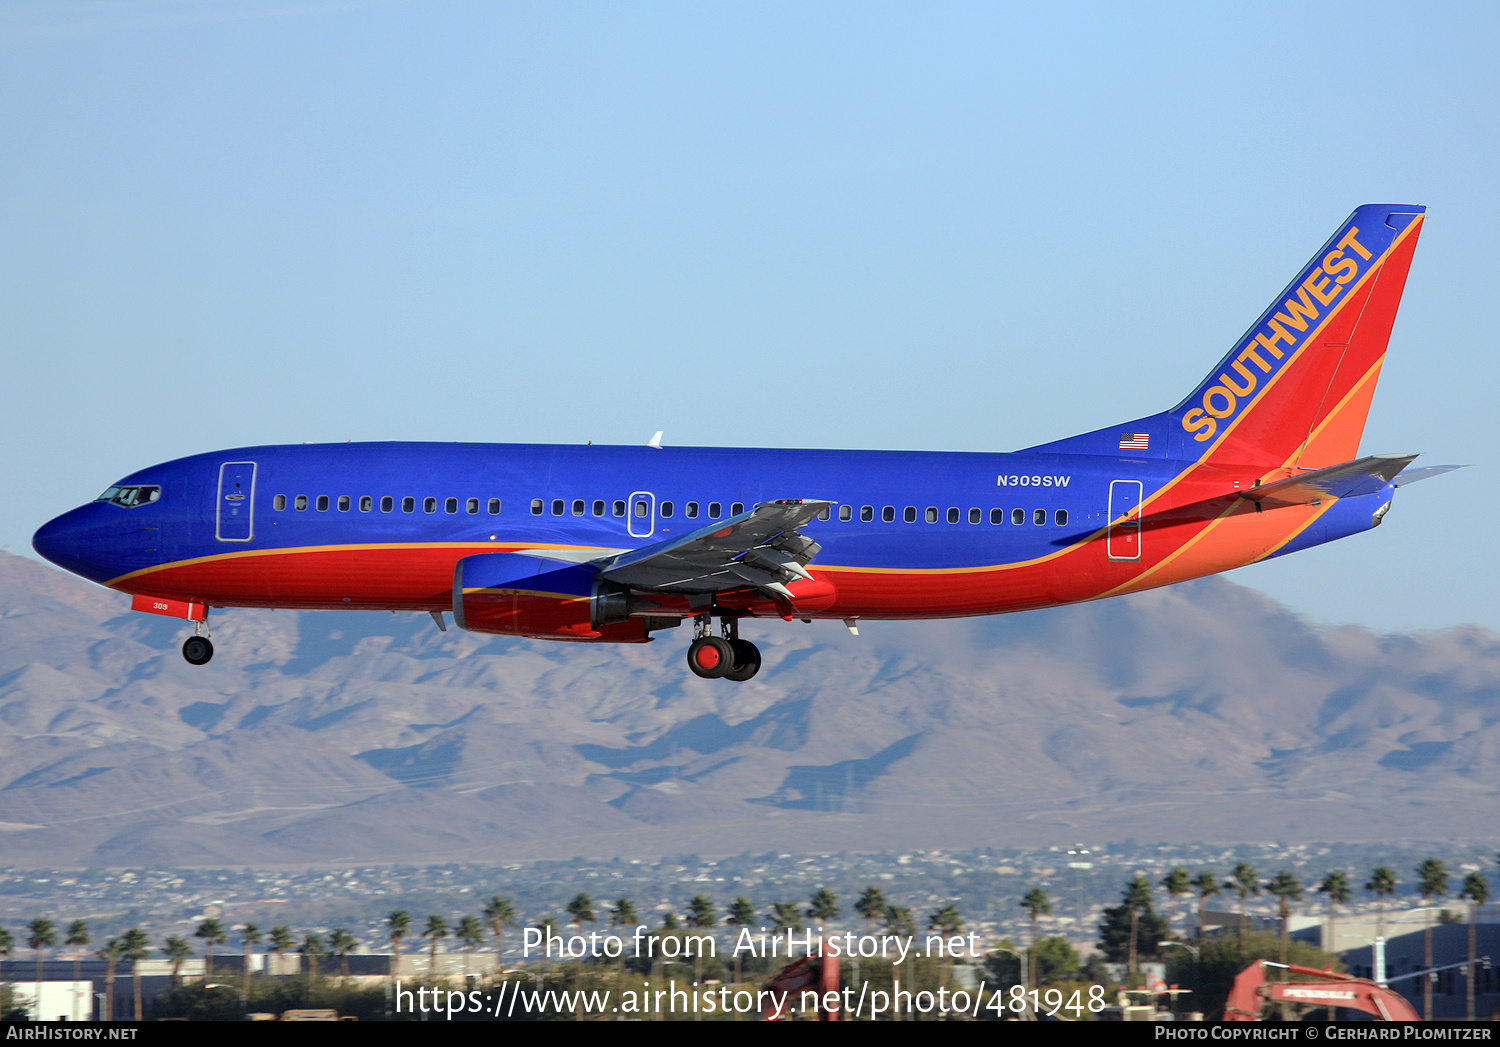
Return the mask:
{"type": "Polygon", "coordinates": [[[590,564],[486,552],[453,568],[453,618],[471,633],[646,644],[651,622],[632,618],[632,608],[628,591],[612,590],[590,564]]]}

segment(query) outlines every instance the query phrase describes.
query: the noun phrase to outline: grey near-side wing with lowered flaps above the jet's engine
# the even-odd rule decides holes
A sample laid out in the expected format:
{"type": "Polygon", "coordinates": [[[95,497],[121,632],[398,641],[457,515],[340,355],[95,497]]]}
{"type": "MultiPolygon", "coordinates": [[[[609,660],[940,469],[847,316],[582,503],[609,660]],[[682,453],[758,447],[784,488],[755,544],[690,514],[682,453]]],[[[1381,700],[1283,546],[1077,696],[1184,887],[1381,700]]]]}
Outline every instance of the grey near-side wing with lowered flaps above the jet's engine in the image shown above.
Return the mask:
{"type": "Polygon", "coordinates": [[[822,546],[800,534],[834,502],[783,498],[688,534],[600,561],[610,582],[656,592],[723,592],[756,588],[790,600],[788,584],[810,579],[822,546]]]}

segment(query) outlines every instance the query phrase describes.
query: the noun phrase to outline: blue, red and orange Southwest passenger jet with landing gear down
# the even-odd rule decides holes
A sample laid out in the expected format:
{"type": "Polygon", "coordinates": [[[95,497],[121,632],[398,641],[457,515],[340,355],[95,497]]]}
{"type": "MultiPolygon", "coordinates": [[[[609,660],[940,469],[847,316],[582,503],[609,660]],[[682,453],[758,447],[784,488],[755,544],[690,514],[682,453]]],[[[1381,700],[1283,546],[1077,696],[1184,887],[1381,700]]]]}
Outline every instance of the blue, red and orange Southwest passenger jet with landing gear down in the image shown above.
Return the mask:
{"type": "Polygon", "coordinates": [[[690,621],[692,672],[746,681],[741,618],[858,633],[1172,585],[1374,528],[1458,468],[1358,454],[1425,212],[1356,208],[1178,406],[1014,453],[240,447],[132,472],[33,546],[194,622],[192,664],[210,608],[340,608],[604,644],[690,621]]]}

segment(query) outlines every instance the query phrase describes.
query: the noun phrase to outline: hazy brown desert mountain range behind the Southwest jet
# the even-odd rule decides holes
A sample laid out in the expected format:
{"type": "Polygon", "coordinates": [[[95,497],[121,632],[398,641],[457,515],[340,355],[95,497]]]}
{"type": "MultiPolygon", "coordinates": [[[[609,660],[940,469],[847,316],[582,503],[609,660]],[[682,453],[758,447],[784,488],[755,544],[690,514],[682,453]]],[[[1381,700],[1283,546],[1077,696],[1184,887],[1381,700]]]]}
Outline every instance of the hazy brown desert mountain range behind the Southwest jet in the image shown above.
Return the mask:
{"type": "Polygon", "coordinates": [[[765,668],[184,622],[0,554],[0,864],[304,866],[1089,840],[1500,836],[1500,638],[1308,622],[1206,579],[942,622],[752,621],[765,668]]]}

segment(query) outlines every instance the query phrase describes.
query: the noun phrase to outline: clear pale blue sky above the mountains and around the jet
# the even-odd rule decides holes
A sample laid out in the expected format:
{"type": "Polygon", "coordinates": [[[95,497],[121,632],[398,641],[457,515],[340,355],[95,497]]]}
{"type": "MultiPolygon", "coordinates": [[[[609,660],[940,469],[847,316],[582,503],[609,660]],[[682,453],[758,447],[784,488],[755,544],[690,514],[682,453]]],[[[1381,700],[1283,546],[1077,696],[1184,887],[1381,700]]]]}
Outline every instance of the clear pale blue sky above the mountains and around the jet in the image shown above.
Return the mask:
{"type": "Polygon", "coordinates": [[[1232,578],[1500,628],[1486,4],[0,8],[0,543],[156,460],[1012,450],[1173,405],[1356,206],[1430,220],[1365,452],[1232,578]]]}

